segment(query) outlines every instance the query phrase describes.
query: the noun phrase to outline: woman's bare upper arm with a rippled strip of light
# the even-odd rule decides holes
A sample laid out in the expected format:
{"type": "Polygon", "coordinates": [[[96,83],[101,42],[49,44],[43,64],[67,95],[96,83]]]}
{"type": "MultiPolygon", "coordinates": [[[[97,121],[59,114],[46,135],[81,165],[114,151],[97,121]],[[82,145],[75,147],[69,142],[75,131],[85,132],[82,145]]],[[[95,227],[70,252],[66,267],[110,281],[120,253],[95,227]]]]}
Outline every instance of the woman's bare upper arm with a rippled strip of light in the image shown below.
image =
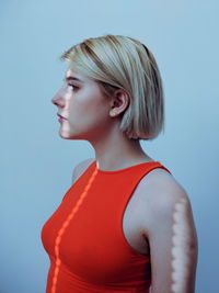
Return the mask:
{"type": "Polygon", "coordinates": [[[194,293],[198,240],[189,199],[175,182],[165,182],[158,192],[147,225],[151,293],[194,293]]]}

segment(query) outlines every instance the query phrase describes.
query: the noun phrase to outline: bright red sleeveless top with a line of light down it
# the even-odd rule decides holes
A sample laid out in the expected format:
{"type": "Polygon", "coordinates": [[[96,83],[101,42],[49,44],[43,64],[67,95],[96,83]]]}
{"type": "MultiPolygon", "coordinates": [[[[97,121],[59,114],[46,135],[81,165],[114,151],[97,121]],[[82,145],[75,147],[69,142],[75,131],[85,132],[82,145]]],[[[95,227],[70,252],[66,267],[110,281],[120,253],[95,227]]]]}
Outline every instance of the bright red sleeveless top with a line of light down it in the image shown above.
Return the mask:
{"type": "Polygon", "coordinates": [[[155,168],[170,172],[159,161],[105,171],[94,160],[78,178],[42,228],[50,259],[46,293],[149,292],[150,257],[126,240],[123,215],[140,179],[155,168]]]}

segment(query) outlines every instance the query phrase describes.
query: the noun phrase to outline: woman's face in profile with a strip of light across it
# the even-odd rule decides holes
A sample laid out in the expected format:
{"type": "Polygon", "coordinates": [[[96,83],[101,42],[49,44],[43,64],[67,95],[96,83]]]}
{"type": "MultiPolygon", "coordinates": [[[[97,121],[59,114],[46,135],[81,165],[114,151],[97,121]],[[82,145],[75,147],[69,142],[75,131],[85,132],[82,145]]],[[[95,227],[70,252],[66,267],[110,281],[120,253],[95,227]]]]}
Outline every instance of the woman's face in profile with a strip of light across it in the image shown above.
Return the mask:
{"type": "Polygon", "coordinates": [[[67,70],[64,87],[51,102],[65,117],[59,129],[62,138],[99,139],[112,123],[110,100],[102,94],[99,84],[72,69],[67,70]]]}

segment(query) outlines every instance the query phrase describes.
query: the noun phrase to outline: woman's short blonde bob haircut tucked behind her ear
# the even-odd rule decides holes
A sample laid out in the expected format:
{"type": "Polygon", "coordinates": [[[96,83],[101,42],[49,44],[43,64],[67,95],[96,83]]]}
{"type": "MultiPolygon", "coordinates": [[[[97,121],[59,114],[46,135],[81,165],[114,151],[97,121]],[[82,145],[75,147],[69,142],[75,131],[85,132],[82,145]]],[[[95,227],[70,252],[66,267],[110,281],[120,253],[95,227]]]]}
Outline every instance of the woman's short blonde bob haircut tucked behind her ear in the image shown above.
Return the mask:
{"type": "Polygon", "coordinates": [[[100,84],[104,95],[116,89],[128,93],[119,129],[130,139],[153,139],[164,131],[164,97],[152,53],[139,41],[107,34],[73,45],[60,57],[69,68],[100,84]]]}

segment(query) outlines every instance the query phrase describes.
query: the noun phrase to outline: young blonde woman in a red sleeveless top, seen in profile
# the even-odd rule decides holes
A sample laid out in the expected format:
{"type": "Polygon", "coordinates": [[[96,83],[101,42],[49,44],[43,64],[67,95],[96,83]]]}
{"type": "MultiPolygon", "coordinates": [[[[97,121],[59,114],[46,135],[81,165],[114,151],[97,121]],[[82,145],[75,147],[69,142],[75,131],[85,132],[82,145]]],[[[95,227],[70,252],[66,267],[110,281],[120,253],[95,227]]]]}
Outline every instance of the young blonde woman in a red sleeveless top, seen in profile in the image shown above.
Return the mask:
{"type": "Polygon", "coordinates": [[[64,87],[53,98],[59,135],[85,139],[95,159],[42,229],[50,258],[47,293],[194,293],[197,234],[189,198],[140,139],[164,126],[162,80],[146,45],[93,37],[65,52],[64,87]]]}

